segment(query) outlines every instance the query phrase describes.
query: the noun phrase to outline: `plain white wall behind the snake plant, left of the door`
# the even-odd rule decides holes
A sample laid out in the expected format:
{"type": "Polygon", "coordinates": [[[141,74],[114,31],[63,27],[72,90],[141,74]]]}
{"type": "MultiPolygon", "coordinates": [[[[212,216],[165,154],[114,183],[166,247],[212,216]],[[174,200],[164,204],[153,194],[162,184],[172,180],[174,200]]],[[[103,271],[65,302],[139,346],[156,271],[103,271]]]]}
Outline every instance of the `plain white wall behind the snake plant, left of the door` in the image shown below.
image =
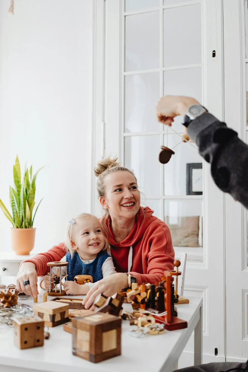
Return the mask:
{"type": "MultiPolygon", "coordinates": [[[[91,2],[0,2],[0,198],[9,205],[16,154],[36,181],[34,251],[63,240],[75,214],[90,211],[91,2]]],[[[0,211],[0,251],[10,248],[0,211]]]]}

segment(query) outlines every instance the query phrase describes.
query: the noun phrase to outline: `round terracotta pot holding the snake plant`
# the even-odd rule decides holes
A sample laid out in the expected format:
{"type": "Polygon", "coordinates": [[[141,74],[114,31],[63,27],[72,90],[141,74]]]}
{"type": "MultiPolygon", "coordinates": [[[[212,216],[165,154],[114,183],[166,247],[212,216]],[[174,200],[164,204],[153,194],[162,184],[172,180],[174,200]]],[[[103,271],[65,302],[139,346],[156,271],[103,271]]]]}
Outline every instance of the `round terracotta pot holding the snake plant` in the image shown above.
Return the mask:
{"type": "Polygon", "coordinates": [[[35,246],[35,230],[10,228],[11,247],[18,255],[29,254],[35,246]]]}

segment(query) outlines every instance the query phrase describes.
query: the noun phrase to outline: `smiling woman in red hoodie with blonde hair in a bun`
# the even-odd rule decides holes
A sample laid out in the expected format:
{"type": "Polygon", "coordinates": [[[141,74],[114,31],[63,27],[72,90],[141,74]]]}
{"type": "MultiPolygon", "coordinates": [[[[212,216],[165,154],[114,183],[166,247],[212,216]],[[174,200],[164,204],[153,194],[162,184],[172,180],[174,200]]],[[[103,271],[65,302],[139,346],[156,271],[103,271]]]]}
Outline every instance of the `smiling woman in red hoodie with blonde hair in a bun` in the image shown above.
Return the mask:
{"type": "MultiPolygon", "coordinates": [[[[88,292],[85,307],[103,293],[111,296],[128,286],[127,273],[137,282],[155,283],[164,270],[173,270],[174,250],[170,230],[153,211],[140,206],[140,193],[132,171],[116,163],[117,158],[106,158],[94,169],[99,201],[105,211],[101,219],[116,274],[99,280],[88,292]]],[[[48,272],[47,262],[59,261],[65,255],[64,244],[54,246],[46,253],[23,261],[17,274],[17,290],[38,295],[37,275],[48,272]],[[25,283],[29,281],[29,283],[25,283]],[[25,284],[25,285],[24,285],[25,284]]]]}

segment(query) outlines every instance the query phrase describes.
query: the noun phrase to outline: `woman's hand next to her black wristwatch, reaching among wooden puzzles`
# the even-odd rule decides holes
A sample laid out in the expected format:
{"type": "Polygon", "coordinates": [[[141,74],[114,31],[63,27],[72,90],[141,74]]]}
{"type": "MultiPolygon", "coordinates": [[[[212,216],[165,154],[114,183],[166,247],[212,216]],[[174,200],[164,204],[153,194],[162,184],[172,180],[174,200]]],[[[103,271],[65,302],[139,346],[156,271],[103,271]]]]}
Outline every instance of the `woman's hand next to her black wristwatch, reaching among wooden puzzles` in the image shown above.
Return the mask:
{"type": "Polygon", "coordinates": [[[99,280],[99,282],[96,282],[90,291],[88,291],[88,294],[83,300],[83,305],[88,309],[100,293],[108,297],[113,296],[116,292],[119,292],[122,288],[126,288],[127,286],[128,276],[125,273],[116,273],[106,276],[102,280],[99,280]]]}

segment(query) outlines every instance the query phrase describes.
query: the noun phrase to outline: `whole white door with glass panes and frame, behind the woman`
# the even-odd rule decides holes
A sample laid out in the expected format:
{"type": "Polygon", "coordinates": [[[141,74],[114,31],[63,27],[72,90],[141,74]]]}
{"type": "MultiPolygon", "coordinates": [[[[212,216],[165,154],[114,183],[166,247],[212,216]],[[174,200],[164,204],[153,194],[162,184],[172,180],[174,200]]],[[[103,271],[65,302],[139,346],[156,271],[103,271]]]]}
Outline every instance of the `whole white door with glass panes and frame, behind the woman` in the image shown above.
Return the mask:
{"type": "MultiPolygon", "coordinates": [[[[136,174],[142,205],[169,225],[176,254],[187,253],[184,295],[204,298],[203,361],[225,360],[223,194],[196,146],[180,143],[183,118],[172,128],[155,118],[164,94],[193,96],[223,118],[222,2],[99,0],[99,12],[104,102],[96,107],[95,160],[104,150],[117,154],[136,174]],[[165,165],[162,144],[175,147],[165,165]]],[[[96,195],[93,208],[99,214],[96,195]]],[[[184,356],[192,365],[193,337],[184,356]]]]}

